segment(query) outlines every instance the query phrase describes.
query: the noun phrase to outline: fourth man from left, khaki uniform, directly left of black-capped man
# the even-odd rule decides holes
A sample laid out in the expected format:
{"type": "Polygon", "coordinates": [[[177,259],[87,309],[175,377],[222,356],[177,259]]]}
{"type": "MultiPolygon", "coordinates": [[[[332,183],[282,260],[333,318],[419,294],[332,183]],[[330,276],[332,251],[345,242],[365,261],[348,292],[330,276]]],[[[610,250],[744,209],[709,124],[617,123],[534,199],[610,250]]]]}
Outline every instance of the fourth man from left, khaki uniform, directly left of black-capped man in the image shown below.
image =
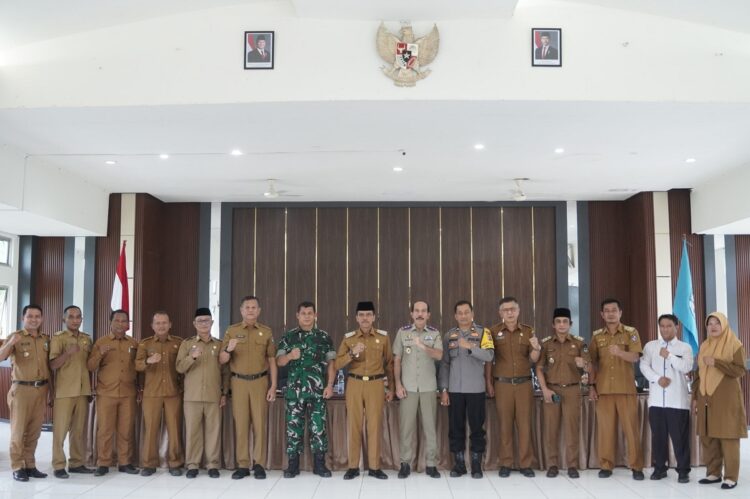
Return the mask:
{"type": "Polygon", "coordinates": [[[143,383],[143,432],[141,476],[151,476],[159,466],[162,411],[169,448],[167,466],[172,476],[182,475],[182,385],[175,361],[182,339],[169,334],[172,322],[166,312],[151,319],[154,336],[138,345],[135,370],[145,373],[143,383]]]}

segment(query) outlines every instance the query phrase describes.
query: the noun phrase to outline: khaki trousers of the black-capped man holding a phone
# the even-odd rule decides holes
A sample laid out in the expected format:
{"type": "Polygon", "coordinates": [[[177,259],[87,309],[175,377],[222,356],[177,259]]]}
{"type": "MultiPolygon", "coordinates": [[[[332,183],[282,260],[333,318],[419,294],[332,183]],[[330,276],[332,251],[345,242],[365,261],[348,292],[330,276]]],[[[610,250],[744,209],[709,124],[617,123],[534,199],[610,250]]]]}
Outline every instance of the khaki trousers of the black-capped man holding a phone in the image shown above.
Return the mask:
{"type": "Polygon", "coordinates": [[[560,466],[560,424],[562,423],[565,438],[565,462],[568,468],[578,468],[579,438],[581,429],[581,388],[575,386],[548,385],[549,389],[560,396],[560,402],[543,403],[542,419],[544,421],[544,453],[547,457],[547,468],[560,466]]]}

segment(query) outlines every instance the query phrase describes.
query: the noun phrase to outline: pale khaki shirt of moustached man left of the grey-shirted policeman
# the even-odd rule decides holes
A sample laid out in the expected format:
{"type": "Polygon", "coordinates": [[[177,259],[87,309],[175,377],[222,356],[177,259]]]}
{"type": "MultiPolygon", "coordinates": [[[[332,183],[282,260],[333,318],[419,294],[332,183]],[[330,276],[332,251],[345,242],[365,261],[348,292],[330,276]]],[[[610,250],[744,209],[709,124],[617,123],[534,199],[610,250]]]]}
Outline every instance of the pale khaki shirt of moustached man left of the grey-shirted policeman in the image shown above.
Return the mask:
{"type": "Polygon", "coordinates": [[[420,331],[409,324],[399,329],[393,340],[393,355],[401,359],[401,384],[407,392],[434,392],[437,390],[437,361],[415,346],[416,337],[430,348],[443,350],[440,331],[432,326],[420,331]]]}

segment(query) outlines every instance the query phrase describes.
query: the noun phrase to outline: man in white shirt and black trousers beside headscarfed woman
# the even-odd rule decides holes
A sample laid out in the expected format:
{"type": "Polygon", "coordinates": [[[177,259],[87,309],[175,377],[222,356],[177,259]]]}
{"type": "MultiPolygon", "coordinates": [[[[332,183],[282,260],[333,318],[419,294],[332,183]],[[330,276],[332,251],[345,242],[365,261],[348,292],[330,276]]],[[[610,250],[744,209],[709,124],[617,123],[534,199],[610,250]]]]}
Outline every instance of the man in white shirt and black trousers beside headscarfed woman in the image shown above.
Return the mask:
{"type": "Polygon", "coordinates": [[[690,393],[685,377],[693,369],[693,350],[677,339],[679,320],[672,314],[659,317],[661,339],[643,348],[641,372],[648,379],[648,420],[651,425],[651,480],[667,477],[669,441],[677,458],[678,482],[690,481],[690,393]]]}

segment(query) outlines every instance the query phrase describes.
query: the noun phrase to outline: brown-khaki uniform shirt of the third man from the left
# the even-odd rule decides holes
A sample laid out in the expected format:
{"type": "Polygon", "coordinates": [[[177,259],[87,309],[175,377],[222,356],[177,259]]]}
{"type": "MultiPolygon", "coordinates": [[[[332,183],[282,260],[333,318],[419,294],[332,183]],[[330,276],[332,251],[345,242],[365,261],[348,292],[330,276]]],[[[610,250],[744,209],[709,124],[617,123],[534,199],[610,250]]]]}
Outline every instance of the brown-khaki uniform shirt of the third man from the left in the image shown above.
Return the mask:
{"type": "Polygon", "coordinates": [[[96,340],[89,355],[89,371],[96,371],[96,394],[105,397],[132,397],[136,392],[135,354],[138,342],[130,336],[115,338],[113,333],[96,340]],[[112,347],[102,355],[100,346],[112,347]]]}

